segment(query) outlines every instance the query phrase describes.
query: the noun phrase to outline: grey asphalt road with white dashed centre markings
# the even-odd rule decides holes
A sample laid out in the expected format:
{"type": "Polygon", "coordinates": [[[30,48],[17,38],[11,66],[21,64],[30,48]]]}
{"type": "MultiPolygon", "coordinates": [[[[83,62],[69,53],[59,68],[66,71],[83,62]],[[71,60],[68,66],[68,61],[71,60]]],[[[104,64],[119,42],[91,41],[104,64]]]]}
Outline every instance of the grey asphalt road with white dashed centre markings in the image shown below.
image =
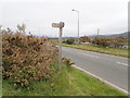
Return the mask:
{"type": "Polygon", "coordinates": [[[128,91],[128,59],[110,54],[63,47],[63,57],[77,66],[128,91]]]}

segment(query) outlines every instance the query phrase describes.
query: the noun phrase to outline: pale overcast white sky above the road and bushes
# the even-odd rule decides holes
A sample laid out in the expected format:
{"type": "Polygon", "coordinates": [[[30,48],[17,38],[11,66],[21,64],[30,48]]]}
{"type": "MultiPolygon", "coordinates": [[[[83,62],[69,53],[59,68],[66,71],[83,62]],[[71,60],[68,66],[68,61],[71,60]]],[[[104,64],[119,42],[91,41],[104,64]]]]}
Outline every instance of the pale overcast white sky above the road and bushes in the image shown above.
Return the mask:
{"type": "Polygon", "coordinates": [[[0,0],[0,25],[16,30],[25,23],[26,30],[37,36],[57,37],[52,23],[64,22],[63,36],[120,34],[128,30],[129,0],[0,0]]]}

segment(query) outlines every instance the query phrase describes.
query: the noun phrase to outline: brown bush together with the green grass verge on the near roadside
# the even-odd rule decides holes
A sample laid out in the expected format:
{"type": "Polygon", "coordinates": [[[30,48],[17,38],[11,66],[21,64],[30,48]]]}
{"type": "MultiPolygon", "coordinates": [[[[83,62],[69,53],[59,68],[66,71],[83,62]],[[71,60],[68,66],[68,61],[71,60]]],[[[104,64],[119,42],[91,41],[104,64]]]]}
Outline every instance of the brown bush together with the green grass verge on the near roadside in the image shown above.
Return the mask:
{"type": "Polygon", "coordinates": [[[57,48],[48,38],[2,29],[3,96],[126,96],[72,68],[63,59],[57,71],[57,48]]]}

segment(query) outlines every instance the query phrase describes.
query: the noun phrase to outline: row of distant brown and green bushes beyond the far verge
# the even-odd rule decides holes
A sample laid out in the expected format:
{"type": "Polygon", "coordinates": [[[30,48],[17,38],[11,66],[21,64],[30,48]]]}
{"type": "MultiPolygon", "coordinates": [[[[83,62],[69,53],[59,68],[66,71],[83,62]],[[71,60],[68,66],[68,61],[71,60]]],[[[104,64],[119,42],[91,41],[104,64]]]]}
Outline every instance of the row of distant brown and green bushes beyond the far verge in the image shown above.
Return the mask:
{"type": "MultiPolygon", "coordinates": [[[[76,38],[63,39],[63,44],[67,44],[67,45],[76,44],[76,41],[77,41],[76,38]]],[[[106,48],[109,47],[109,48],[126,48],[126,49],[128,49],[129,48],[128,44],[129,44],[130,39],[122,37],[122,36],[90,38],[84,35],[79,38],[79,41],[80,41],[80,44],[88,42],[89,45],[103,46],[106,48]]],[[[57,39],[55,39],[54,42],[57,44],[57,39]]]]}

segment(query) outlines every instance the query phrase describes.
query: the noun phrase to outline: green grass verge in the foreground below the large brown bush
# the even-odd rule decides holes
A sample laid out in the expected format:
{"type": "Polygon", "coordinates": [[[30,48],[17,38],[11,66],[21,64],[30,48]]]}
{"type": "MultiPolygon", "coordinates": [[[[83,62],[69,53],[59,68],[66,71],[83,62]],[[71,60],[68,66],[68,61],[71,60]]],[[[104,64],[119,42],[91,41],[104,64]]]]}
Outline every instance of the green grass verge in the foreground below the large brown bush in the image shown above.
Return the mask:
{"type": "MultiPolygon", "coordinates": [[[[54,63],[57,65],[57,62],[54,63]]],[[[63,64],[48,82],[32,82],[35,89],[14,88],[9,81],[3,81],[3,96],[127,96],[126,94],[63,64]]]]}

